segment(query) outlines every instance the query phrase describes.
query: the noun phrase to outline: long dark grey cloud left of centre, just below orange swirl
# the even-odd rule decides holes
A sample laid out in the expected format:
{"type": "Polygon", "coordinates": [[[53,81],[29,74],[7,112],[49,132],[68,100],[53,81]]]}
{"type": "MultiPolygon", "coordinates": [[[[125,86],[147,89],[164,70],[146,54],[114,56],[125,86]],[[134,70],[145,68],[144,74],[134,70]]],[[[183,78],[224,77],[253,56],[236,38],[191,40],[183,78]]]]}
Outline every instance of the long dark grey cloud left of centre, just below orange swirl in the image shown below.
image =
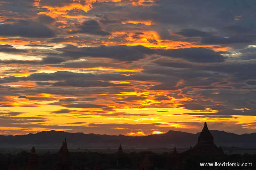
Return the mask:
{"type": "Polygon", "coordinates": [[[67,46],[66,48],[58,49],[63,51],[63,55],[72,58],[81,57],[98,57],[98,58],[113,58],[120,61],[137,61],[146,57],[146,55],[153,54],[151,50],[142,45],[137,46],[105,46],[99,47],[81,47],[67,46]]]}

